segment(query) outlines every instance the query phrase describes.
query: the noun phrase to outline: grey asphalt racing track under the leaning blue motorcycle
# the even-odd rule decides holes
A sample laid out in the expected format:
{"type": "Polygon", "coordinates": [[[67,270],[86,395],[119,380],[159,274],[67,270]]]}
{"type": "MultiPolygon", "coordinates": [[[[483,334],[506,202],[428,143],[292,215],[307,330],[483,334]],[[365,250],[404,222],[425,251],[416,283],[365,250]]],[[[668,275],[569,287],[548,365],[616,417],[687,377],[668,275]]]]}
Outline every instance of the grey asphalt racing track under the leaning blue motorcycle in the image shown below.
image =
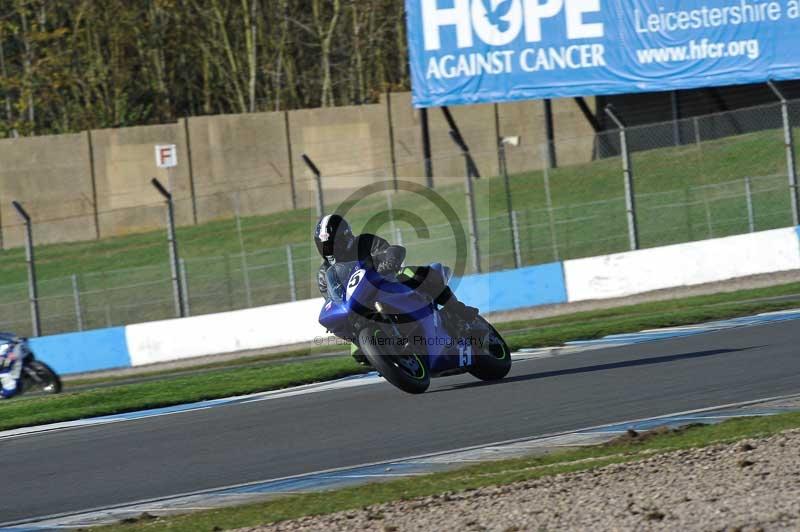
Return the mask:
{"type": "Polygon", "coordinates": [[[0,441],[0,522],[800,392],[800,322],[0,441]]]}

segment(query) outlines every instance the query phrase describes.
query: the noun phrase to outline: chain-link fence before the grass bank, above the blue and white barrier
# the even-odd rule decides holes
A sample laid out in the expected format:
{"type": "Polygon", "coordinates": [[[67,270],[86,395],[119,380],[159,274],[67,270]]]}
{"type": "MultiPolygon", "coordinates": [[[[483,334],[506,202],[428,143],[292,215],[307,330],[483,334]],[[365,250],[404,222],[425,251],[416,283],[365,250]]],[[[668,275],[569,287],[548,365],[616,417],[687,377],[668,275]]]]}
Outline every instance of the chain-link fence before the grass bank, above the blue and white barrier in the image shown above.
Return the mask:
{"type": "MultiPolygon", "coordinates": [[[[794,223],[780,104],[675,122],[627,128],[638,247],[717,238],[790,226],[794,223]]],[[[800,102],[788,103],[792,127],[800,124],[800,102]]],[[[622,117],[624,119],[624,117],[622,117]]],[[[480,124],[460,125],[462,131],[480,124]]],[[[498,139],[500,140],[500,139],[498,139]]],[[[792,147],[796,150],[796,147],[792,147]]],[[[502,162],[486,163],[474,179],[478,246],[467,246],[465,273],[495,271],[631,249],[619,131],[558,140],[552,145],[504,146],[502,162]],[[550,154],[558,165],[551,167],[550,154]],[[510,209],[509,209],[510,204],[510,209]],[[475,248],[479,247],[479,260],[475,248]]],[[[498,154],[471,154],[478,161],[498,154]]],[[[419,163],[419,161],[417,161],[419,163]]],[[[463,154],[434,158],[434,168],[466,168],[463,154]]],[[[412,164],[401,160],[400,164],[412,164]]],[[[359,187],[396,181],[396,168],[359,175],[322,177],[325,209],[341,207],[359,187]]],[[[455,172],[454,172],[455,173],[455,172]]],[[[415,178],[425,183],[425,178],[415,178]]],[[[298,181],[298,195],[315,197],[316,180],[298,181]]],[[[319,267],[311,231],[316,208],[270,215],[254,202],[267,201],[270,186],[236,192],[199,194],[196,202],[218,206],[233,217],[187,224],[178,216],[177,282],[185,297],[184,314],[199,315],[317,297],[319,267]]],[[[463,175],[435,175],[435,192],[460,221],[470,242],[469,195],[463,175]]],[[[100,212],[106,220],[158,212],[166,228],[166,208],[152,204],[100,212]]],[[[175,198],[178,213],[192,201],[175,198]]],[[[314,205],[315,201],[302,204],[314,205]]],[[[451,220],[442,209],[401,190],[372,194],[345,203],[357,231],[374,227],[408,249],[409,264],[459,259],[451,220]],[[380,216],[378,216],[380,215],[380,216]],[[424,221],[423,230],[415,220],[424,221]],[[370,225],[372,224],[372,225],[370,225]]],[[[205,208],[204,211],[208,211],[205,208]]],[[[32,209],[34,241],[50,220],[46,205],[32,209]]],[[[109,222],[111,223],[111,222],[109,222]]],[[[24,226],[11,234],[19,243],[24,226]],[[17,232],[19,235],[17,235],[17,232]],[[15,236],[17,235],[17,236],[15,236]]],[[[43,334],[174,318],[175,280],[166,230],[114,239],[52,244],[36,248],[38,305],[43,334]]],[[[0,253],[0,329],[33,330],[25,256],[20,248],[0,253]]],[[[178,310],[176,310],[178,309],[178,310]]]]}

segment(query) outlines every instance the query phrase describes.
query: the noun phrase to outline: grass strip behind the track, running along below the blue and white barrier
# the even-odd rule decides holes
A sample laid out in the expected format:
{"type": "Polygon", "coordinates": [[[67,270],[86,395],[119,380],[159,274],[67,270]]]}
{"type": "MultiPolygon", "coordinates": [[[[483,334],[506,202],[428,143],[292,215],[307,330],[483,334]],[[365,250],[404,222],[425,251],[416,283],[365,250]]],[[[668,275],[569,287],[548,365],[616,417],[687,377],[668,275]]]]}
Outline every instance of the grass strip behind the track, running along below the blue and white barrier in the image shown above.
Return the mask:
{"type": "MultiPolygon", "coordinates": [[[[599,338],[645,328],[700,323],[792,308],[798,305],[800,296],[780,300],[768,298],[786,297],[799,292],[800,283],[793,283],[511,322],[503,324],[501,330],[506,332],[512,349],[558,345],[570,340],[599,338]],[[513,332],[515,330],[517,332],[513,332]]],[[[303,354],[303,351],[293,352],[294,356],[303,354]]],[[[270,362],[265,360],[266,365],[263,366],[226,368],[225,365],[235,363],[232,361],[219,368],[212,365],[208,371],[201,373],[165,371],[160,375],[162,380],[119,385],[112,382],[103,388],[74,393],[67,390],[68,393],[59,396],[22,397],[0,403],[0,430],[275,390],[365,372],[363,367],[347,356],[285,364],[270,362]]],[[[153,374],[148,378],[152,377],[153,374]]]]}

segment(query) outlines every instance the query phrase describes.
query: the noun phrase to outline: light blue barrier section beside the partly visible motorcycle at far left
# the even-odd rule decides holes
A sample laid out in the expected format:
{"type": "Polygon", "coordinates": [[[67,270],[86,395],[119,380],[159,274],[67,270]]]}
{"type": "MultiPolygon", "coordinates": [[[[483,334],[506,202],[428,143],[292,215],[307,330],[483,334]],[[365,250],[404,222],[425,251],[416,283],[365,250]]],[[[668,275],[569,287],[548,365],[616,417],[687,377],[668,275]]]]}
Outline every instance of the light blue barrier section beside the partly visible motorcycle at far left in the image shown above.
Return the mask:
{"type": "Polygon", "coordinates": [[[31,348],[62,375],[131,365],[124,327],[31,338],[31,348]]]}

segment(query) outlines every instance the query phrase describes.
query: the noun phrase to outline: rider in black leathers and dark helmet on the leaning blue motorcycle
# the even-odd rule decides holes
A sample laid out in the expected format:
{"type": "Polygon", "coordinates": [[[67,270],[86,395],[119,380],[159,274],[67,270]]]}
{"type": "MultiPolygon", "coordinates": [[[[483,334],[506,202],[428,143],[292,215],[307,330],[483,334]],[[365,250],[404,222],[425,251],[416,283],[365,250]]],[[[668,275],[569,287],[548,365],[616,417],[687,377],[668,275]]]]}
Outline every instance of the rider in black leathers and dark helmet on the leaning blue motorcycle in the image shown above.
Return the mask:
{"type": "Polygon", "coordinates": [[[447,281],[437,270],[427,266],[406,267],[400,271],[406,250],[393,246],[383,238],[362,234],[355,236],[350,224],[338,214],[324,216],[314,230],[314,243],[322,256],[322,265],[317,274],[319,291],[327,297],[328,283],[325,273],[336,261],[360,260],[365,267],[382,274],[397,274],[397,280],[428,295],[436,304],[442,305],[449,315],[466,322],[478,316],[478,309],[469,307],[456,298],[447,286],[447,281]]]}

